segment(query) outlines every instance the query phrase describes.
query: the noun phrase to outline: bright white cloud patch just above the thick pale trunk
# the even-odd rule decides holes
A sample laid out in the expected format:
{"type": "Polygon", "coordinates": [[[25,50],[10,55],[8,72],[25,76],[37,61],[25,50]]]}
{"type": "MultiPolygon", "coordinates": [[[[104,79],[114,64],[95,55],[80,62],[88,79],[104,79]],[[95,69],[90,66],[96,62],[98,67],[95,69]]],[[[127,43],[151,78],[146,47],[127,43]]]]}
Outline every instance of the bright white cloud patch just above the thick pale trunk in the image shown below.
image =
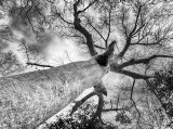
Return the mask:
{"type": "Polygon", "coordinates": [[[54,36],[46,48],[46,55],[51,63],[63,60],[64,64],[86,60],[80,55],[80,48],[70,39],[62,39],[59,36],[54,36]]]}

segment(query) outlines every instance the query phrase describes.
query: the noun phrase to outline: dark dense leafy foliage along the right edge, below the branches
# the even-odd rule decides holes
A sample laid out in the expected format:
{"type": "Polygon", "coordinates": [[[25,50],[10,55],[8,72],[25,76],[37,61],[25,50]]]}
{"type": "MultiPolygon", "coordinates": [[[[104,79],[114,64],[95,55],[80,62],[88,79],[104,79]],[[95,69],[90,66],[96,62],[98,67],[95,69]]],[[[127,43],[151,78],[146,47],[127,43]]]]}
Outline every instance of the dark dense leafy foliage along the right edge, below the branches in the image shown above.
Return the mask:
{"type": "Polygon", "coordinates": [[[155,76],[156,78],[149,85],[150,90],[160,101],[162,109],[171,120],[169,124],[171,126],[173,122],[173,69],[156,72],[155,76]]]}

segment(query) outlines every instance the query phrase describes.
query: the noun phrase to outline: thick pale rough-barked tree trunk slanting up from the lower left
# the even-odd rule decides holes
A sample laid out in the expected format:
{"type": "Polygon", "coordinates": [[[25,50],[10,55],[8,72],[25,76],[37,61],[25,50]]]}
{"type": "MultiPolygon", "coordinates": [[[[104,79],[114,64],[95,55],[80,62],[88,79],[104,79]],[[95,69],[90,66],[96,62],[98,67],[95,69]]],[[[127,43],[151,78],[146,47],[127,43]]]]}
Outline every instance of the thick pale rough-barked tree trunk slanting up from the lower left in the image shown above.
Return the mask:
{"type": "Polygon", "coordinates": [[[0,128],[36,128],[96,86],[109,70],[115,43],[89,61],[0,78],[0,128]]]}

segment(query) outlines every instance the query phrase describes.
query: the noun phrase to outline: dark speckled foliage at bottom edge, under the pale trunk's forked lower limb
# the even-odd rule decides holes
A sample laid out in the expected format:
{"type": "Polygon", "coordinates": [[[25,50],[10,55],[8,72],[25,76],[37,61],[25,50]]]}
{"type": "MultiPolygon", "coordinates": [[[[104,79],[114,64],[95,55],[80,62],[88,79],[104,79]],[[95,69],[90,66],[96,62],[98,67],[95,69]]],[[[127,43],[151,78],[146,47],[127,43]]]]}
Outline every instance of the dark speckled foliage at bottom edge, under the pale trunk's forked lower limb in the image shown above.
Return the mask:
{"type": "Polygon", "coordinates": [[[109,124],[103,124],[99,118],[92,118],[96,105],[85,103],[72,116],[57,116],[57,121],[48,125],[49,129],[115,129],[109,124]]]}

